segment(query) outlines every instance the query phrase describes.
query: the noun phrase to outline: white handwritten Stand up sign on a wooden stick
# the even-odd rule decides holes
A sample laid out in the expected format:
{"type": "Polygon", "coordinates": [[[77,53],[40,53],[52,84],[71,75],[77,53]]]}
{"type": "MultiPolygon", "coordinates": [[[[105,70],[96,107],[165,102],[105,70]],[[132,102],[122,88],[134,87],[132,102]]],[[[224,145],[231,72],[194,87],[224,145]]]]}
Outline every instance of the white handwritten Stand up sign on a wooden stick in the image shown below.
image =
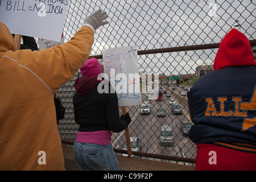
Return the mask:
{"type": "Polygon", "coordinates": [[[107,49],[103,51],[102,56],[104,72],[115,88],[118,105],[141,105],[137,47],[107,49]]]}

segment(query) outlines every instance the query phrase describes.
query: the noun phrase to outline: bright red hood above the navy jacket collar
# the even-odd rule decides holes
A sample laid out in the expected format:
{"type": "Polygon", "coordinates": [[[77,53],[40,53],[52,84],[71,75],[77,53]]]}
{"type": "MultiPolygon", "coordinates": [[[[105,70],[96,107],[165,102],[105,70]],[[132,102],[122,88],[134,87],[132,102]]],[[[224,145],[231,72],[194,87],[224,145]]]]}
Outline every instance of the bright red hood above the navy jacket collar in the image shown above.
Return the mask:
{"type": "Polygon", "coordinates": [[[233,28],[220,43],[214,59],[214,70],[226,67],[256,66],[250,42],[240,31],[233,28]]]}

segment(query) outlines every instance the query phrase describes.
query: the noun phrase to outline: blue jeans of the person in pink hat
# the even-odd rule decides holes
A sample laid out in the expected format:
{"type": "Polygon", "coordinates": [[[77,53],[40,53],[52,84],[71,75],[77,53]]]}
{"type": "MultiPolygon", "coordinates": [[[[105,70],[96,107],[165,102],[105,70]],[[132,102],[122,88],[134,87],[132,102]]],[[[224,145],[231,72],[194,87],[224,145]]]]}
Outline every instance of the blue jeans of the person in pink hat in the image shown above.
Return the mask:
{"type": "Polygon", "coordinates": [[[105,146],[75,142],[73,155],[81,171],[119,171],[117,156],[112,144],[105,146]]]}

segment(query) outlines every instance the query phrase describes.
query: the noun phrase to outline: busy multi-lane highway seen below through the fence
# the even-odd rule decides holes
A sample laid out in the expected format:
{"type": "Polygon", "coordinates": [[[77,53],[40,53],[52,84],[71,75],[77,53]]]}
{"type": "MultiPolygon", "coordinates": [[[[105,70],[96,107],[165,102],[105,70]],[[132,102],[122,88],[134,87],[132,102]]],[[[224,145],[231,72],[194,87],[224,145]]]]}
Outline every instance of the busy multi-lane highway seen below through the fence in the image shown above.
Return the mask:
{"type": "MultiPolygon", "coordinates": [[[[166,97],[166,94],[163,96],[163,101],[150,100],[152,109],[149,115],[141,115],[140,105],[129,106],[127,107],[127,111],[132,119],[132,122],[129,125],[130,137],[138,137],[141,139],[141,152],[196,158],[196,145],[180,131],[181,121],[191,122],[187,96],[184,97],[180,95],[181,90],[184,89],[176,88],[172,91],[171,86],[168,88],[166,85],[163,85],[163,89],[166,89],[168,93],[171,93],[171,97],[174,98],[175,102],[183,107],[183,114],[174,115],[172,113],[171,105],[169,104],[170,97],[166,97]],[[157,117],[156,113],[160,107],[166,111],[166,117],[157,117]],[[169,125],[172,127],[172,130],[174,131],[174,146],[161,146],[161,125],[169,125]]],[[[142,94],[142,101],[144,98],[146,98],[146,95],[142,94]]],[[[125,140],[125,131],[114,133],[112,135],[112,144],[114,148],[122,148],[125,140]]]]}

